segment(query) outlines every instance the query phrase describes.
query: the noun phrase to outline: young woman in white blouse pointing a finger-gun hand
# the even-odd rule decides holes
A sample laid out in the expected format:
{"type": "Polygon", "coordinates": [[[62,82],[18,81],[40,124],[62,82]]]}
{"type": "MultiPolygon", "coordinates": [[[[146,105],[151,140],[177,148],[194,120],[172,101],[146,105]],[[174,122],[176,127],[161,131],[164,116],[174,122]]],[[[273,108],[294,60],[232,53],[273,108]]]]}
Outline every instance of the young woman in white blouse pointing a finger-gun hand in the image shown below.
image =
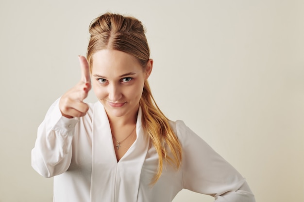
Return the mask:
{"type": "Polygon", "coordinates": [[[89,31],[81,81],[51,106],[32,150],[33,168],[54,176],[53,201],[171,202],[186,188],[217,202],[254,202],[229,163],[157,107],[141,22],[106,13],[89,31]],[[86,104],[91,86],[99,101],[86,104]]]}

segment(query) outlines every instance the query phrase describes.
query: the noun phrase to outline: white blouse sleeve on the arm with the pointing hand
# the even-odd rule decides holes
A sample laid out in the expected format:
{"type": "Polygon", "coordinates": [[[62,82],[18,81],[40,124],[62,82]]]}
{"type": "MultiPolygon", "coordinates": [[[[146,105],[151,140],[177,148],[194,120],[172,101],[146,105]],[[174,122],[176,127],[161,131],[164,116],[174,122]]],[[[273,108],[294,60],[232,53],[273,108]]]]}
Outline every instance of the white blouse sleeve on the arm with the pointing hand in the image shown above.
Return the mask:
{"type": "Polygon", "coordinates": [[[72,138],[76,118],[62,116],[59,99],[48,110],[39,125],[32,150],[32,167],[44,177],[52,177],[68,170],[72,156],[72,138]]]}

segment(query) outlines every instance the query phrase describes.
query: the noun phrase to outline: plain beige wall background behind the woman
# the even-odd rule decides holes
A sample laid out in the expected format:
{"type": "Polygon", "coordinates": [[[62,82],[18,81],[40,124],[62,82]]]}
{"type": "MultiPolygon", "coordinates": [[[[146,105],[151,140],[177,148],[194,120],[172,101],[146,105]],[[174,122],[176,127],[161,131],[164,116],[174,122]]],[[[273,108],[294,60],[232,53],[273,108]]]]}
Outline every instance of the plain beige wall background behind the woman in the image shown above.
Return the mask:
{"type": "MultiPolygon", "coordinates": [[[[170,119],[233,164],[257,202],[304,201],[303,0],[1,0],[0,202],[52,201],[52,179],[31,168],[36,129],[79,80],[89,23],[106,11],[146,26],[170,119]]],[[[184,201],[213,198],[184,190],[184,201]]]]}

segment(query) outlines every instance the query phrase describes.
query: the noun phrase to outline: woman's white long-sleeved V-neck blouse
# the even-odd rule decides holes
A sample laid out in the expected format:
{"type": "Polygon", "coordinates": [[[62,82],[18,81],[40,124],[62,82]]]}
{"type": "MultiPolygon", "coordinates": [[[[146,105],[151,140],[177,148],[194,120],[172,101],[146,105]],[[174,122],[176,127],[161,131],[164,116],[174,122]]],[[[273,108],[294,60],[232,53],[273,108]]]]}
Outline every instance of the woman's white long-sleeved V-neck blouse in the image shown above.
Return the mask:
{"type": "Polygon", "coordinates": [[[212,195],[215,202],[255,202],[245,179],[184,122],[170,122],[183,147],[181,169],[164,163],[151,186],[158,155],[141,126],[140,109],[136,140],[117,162],[101,103],[73,119],[61,115],[58,103],[38,127],[32,150],[34,170],[54,177],[54,202],[171,202],[183,188],[212,195]]]}

